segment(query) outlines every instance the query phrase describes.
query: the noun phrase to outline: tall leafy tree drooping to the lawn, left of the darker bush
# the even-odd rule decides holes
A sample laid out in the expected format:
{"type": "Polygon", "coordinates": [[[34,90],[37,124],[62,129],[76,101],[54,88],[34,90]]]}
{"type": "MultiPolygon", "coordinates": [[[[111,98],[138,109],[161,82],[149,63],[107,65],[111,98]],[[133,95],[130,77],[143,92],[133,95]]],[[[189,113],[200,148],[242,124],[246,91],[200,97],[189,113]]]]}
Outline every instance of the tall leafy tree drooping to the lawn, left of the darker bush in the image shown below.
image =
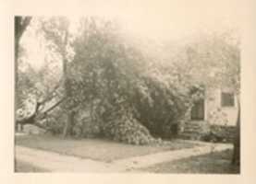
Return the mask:
{"type": "Polygon", "coordinates": [[[142,54],[128,43],[118,24],[95,17],[81,19],[73,47],[71,87],[80,109],[90,110],[91,121],[100,123],[104,136],[146,144],[150,133],[133,117],[129,101],[145,66],[142,54]]]}

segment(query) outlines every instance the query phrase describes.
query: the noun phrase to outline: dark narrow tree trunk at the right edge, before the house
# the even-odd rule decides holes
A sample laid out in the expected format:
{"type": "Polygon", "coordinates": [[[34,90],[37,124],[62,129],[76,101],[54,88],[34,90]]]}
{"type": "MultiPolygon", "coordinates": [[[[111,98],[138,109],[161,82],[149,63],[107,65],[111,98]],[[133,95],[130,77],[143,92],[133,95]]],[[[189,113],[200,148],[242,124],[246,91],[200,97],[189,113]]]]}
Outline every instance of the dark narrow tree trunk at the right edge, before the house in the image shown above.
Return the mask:
{"type": "Polygon", "coordinates": [[[232,157],[232,164],[235,166],[240,165],[240,102],[238,100],[238,119],[237,119],[237,130],[234,139],[234,152],[232,157]]]}

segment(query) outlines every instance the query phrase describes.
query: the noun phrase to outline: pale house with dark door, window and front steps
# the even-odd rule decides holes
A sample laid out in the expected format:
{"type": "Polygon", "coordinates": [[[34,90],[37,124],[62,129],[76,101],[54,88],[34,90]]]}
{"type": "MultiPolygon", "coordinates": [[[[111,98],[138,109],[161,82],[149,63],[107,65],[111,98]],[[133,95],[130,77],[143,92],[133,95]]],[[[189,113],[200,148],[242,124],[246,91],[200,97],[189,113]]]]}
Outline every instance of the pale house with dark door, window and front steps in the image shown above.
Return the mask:
{"type": "Polygon", "coordinates": [[[196,101],[190,110],[190,121],[181,132],[183,138],[201,139],[210,131],[221,128],[226,139],[233,136],[238,118],[238,100],[228,88],[206,89],[204,98],[196,101]]]}

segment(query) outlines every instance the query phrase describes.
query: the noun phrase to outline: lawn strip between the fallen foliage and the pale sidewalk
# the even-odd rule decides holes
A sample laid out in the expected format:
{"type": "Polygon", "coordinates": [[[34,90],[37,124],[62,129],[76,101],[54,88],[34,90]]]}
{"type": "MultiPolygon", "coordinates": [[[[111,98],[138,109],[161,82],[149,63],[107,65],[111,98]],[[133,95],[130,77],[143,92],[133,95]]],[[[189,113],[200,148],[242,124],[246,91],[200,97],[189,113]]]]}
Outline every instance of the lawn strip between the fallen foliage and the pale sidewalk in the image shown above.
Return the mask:
{"type": "Polygon", "coordinates": [[[131,145],[103,139],[74,140],[49,135],[18,136],[16,137],[16,144],[62,155],[74,155],[104,162],[162,151],[190,148],[196,145],[180,140],[167,142],[165,145],[131,145]]]}

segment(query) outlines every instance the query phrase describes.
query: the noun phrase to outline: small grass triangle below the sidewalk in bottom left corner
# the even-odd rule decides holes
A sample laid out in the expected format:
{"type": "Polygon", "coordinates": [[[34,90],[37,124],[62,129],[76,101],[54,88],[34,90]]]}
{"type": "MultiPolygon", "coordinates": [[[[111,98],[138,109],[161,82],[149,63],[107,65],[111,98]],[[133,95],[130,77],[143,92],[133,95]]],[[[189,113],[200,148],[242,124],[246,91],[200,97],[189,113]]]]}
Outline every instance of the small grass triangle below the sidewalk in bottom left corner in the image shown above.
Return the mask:
{"type": "Polygon", "coordinates": [[[49,172],[48,170],[41,168],[41,167],[34,167],[29,163],[21,162],[17,160],[15,162],[15,172],[49,172]]]}

